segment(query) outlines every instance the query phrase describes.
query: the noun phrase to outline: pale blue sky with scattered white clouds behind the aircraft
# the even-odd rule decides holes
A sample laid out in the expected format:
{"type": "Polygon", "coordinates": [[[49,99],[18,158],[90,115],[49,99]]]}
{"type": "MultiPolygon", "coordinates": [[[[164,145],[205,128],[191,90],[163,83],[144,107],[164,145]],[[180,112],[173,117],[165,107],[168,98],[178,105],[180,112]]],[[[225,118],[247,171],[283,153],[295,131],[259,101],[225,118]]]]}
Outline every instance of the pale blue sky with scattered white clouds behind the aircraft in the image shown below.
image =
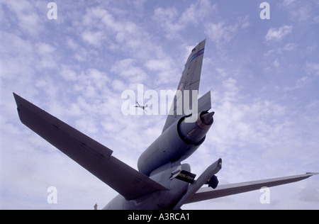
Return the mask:
{"type": "MultiPolygon", "coordinates": [[[[49,1],[0,1],[0,208],[103,208],[117,195],[26,128],[13,91],[136,168],[166,116],[125,116],[123,91],[177,89],[204,39],[199,95],[211,90],[216,115],[185,161],[192,172],[219,157],[220,184],[319,172],[318,1],[268,0],[269,20],[262,0],[54,2],[57,19],[49,1]],[[57,204],[47,203],[50,186],[57,204]]],[[[319,178],[270,189],[269,204],[260,196],[182,208],[319,209],[319,178]]]]}

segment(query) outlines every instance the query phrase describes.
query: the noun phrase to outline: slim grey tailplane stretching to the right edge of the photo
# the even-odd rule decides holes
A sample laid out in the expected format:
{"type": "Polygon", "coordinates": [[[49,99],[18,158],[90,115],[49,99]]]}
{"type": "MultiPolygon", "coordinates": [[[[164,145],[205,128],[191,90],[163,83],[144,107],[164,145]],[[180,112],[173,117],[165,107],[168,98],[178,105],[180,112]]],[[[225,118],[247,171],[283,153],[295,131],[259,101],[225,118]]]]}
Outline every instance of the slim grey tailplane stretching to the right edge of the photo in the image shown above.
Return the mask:
{"type": "Polygon", "coordinates": [[[194,194],[188,201],[185,203],[194,203],[198,201],[205,201],[213,198],[220,198],[223,196],[229,196],[233,194],[240,194],[247,191],[254,191],[261,189],[263,186],[271,187],[278,186],[282,184],[289,184],[296,181],[301,181],[307,179],[313,175],[319,173],[306,173],[290,177],[279,177],[273,179],[264,179],[259,181],[249,181],[242,182],[238,184],[225,184],[219,185],[216,189],[211,189],[210,187],[203,187],[199,189],[196,194],[194,194]]]}

